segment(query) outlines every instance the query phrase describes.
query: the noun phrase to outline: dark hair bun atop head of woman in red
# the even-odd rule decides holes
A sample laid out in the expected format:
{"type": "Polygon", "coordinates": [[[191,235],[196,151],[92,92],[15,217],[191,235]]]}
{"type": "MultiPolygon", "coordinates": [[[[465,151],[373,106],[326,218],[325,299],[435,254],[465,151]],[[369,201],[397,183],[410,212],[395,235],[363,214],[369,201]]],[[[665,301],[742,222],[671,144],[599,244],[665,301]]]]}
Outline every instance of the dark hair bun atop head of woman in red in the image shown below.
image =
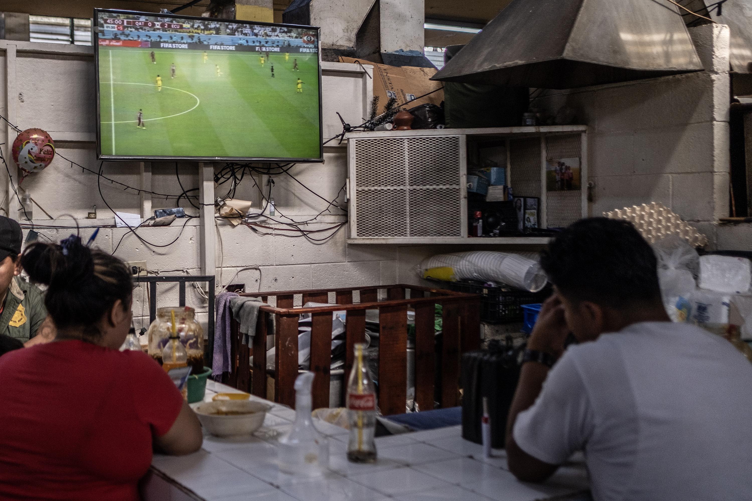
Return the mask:
{"type": "Polygon", "coordinates": [[[65,288],[94,273],[94,260],[80,237],[71,235],[59,244],[36,242],[21,255],[21,266],[32,282],[65,288]]]}

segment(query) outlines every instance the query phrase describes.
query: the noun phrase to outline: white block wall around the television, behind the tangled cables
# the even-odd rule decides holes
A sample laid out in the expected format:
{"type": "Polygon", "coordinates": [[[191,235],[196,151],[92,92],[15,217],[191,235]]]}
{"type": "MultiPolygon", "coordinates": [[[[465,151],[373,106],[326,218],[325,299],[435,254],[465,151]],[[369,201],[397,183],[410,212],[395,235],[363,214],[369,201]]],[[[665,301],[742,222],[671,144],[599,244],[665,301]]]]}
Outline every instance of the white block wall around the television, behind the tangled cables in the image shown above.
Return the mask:
{"type": "MultiPolygon", "coordinates": [[[[0,93],[0,113],[11,119],[20,128],[38,127],[50,132],[56,140],[59,154],[76,161],[86,168],[98,171],[96,161],[96,78],[91,47],[58,46],[54,44],[12,43],[0,41],[0,80],[6,83],[6,92],[0,93]],[[12,46],[10,49],[9,46],[12,46]],[[13,49],[16,50],[13,50],[13,49]],[[15,57],[13,53],[15,52],[15,57]],[[10,54],[10,56],[9,56],[10,54]],[[40,68],[44,68],[40,77],[40,68]],[[10,75],[10,77],[8,77],[10,75]]],[[[368,113],[370,104],[362,68],[357,65],[337,65],[329,63],[323,72],[323,117],[324,138],[332,137],[341,131],[335,112],[340,112],[347,122],[357,125],[368,113]],[[330,69],[326,69],[330,68],[330,69]],[[334,68],[334,69],[331,69],[334,68]]],[[[15,132],[8,131],[9,141],[3,147],[6,158],[10,157],[8,143],[15,138],[15,132]]],[[[252,137],[249,138],[252,140],[252,137]]],[[[327,200],[340,195],[338,202],[346,207],[344,180],[347,173],[346,143],[341,146],[336,141],[326,146],[323,164],[299,164],[293,174],[301,183],[327,200]]],[[[221,165],[217,165],[220,168],[221,165]]],[[[153,163],[152,186],[154,192],[178,195],[182,190],[175,177],[176,164],[153,163]]],[[[198,187],[198,165],[181,162],[177,165],[180,181],[185,189],[198,187]]],[[[106,162],[105,175],[120,183],[138,187],[140,167],[135,162],[106,162]]],[[[0,167],[4,182],[7,182],[5,168],[0,167]]],[[[256,182],[264,189],[265,179],[256,177],[256,182]]],[[[14,183],[17,179],[14,176],[14,183]]],[[[102,180],[97,183],[96,174],[71,168],[62,156],[57,156],[49,168],[33,174],[23,181],[23,189],[28,189],[32,197],[55,218],[67,219],[67,223],[46,219],[44,213],[35,207],[35,230],[41,240],[59,241],[74,229],[44,228],[45,225],[69,224],[75,226],[75,218],[81,227],[80,234],[86,239],[97,225],[112,225],[113,214],[99,196],[102,195],[114,210],[139,213],[140,196],[133,190],[123,191],[123,186],[102,180]],[[98,219],[85,219],[92,205],[96,205],[98,219]],[[71,217],[65,218],[65,215],[71,217]],[[88,227],[88,228],[87,228],[88,227]]],[[[216,195],[225,195],[229,183],[217,186],[216,195]]],[[[12,193],[12,192],[11,192],[12,193]]],[[[193,192],[196,193],[196,192],[193,192]]],[[[326,202],[306,191],[296,181],[286,175],[274,177],[272,192],[278,213],[305,221],[326,208],[326,202]]],[[[238,186],[236,198],[253,201],[256,210],[262,207],[259,192],[253,178],[246,176],[238,186]]],[[[8,199],[0,206],[8,211],[8,199]]],[[[153,208],[174,207],[174,199],[165,200],[153,196],[153,208]]],[[[186,212],[198,215],[198,210],[190,207],[183,199],[181,206],[186,212]]],[[[308,229],[327,228],[344,222],[344,211],[330,208],[308,229]]],[[[133,234],[123,228],[102,228],[96,244],[107,252],[125,261],[147,261],[147,267],[159,273],[190,273],[197,275],[200,270],[199,220],[191,220],[182,228],[180,219],[169,228],[141,228],[138,234],[150,243],[165,245],[180,234],[174,245],[159,248],[141,243],[133,234]],[[122,242],[120,242],[122,238],[122,242]],[[183,271],[184,270],[184,271],[183,271]]],[[[244,270],[232,280],[243,283],[247,291],[274,291],[306,288],[347,287],[350,285],[381,285],[396,282],[397,249],[394,246],[367,249],[362,246],[348,246],[345,243],[346,228],[341,228],[326,242],[314,242],[304,237],[291,237],[294,232],[284,231],[280,225],[274,230],[259,228],[256,233],[246,226],[232,227],[226,222],[217,222],[217,284],[226,285],[236,272],[244,270]]],[[[311,235],[323,238],[331,232],[311,235]]],[[[159,305],[177,304],[177,284],[158,285],[165,294],[159,298],[159,305]]],[[[141,285],[134,293],[133,312],[135,326],[148,325],[149,306],[146,287],[141,285]]],[[[189,285],[186,303],[196,307],[199,319],[206,322],[207,301],[189,285]]]]}

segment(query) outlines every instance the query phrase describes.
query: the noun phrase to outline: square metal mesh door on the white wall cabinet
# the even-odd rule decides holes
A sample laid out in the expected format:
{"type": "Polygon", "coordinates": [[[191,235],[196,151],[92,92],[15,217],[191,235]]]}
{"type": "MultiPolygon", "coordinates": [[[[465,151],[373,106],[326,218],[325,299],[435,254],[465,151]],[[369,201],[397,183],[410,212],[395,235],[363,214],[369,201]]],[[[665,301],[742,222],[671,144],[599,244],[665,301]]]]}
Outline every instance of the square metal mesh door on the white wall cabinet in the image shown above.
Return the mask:
{"type": "Polygon", "coordinates": [[[350,236],[462,237],[461,141],[350,139],[350,236]]]}

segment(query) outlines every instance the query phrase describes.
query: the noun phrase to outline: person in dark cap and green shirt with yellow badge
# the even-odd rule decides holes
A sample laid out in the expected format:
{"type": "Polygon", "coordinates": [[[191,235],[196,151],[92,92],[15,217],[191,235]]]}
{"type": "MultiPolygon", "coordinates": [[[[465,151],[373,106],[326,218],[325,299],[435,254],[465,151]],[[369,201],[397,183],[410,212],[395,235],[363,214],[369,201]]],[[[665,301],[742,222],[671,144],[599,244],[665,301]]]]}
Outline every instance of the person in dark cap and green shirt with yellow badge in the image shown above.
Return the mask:
{"type": "Polygon", "coordinates": [[[55,329],[47,320],[44,295],[18,276],[22,240],[18,222],[0,216],[0,334],[32,346],[53,340],[55,329]]]}

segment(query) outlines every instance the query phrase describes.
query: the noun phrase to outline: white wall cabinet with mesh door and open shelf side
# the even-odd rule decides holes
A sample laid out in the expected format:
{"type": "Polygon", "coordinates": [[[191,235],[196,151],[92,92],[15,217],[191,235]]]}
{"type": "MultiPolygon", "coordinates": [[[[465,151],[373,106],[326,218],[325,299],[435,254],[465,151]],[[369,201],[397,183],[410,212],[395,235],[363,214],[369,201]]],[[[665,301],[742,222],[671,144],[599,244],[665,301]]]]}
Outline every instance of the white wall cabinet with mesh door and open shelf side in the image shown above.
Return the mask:
{"type": "MultiPolygon", "coordinates": [[[[347,134],[347,243],[546,243],[468,237],[468,164],[507,167],[515,196],[537,197],[541,228],[587,216],[587,126],[463,128],[347,134]],[[579,158],[579,189],[549,191],[547,165],[579,158]]],[[[549,174],[550,175],[550,174],[549,174]]]]}

